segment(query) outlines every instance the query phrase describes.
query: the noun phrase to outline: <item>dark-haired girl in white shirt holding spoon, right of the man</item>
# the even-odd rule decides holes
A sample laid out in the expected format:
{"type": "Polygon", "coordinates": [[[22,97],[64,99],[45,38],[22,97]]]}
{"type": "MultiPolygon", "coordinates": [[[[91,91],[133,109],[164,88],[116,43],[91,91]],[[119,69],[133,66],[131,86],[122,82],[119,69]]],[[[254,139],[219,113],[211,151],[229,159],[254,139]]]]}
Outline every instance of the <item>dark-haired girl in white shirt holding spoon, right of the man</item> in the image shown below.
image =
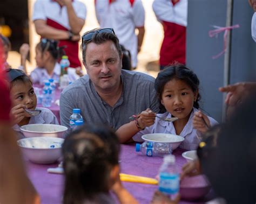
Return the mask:
{"type": "Polygon", "coordinates": [[[132,136],[134,141],[142,142],[141,137],[147,133],[171,133],[184,137],[179,147],[196,150],[201,133],[217,124],[213,118],[198,110],[200,94],[197,75],[183,65],[169,66],[159,72],[154,87],[159,97],[160,110],[165,113],[156,114],[149,108],[141,112],[135,121],[117,130],[120,142],[126,142],[132,136]],[[156,115],[178,117],[178,120],[166,122],[156,115]]]}

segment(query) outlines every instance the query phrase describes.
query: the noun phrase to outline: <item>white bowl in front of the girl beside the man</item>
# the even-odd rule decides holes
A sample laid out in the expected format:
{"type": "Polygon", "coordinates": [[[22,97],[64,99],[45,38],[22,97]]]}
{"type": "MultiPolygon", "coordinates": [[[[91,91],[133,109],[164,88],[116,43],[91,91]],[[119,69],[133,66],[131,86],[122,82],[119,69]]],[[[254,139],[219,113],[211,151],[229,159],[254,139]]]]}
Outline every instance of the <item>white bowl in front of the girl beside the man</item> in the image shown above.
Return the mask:
{"type": "Polygon", "coordinates": [[[184,140],[184,138],[181,136],[167,133],[150,133],[143,135],[142,139],[149,142],[169,143],[169,146],[171,146],[172,150],[175,150],[184,140]]]}

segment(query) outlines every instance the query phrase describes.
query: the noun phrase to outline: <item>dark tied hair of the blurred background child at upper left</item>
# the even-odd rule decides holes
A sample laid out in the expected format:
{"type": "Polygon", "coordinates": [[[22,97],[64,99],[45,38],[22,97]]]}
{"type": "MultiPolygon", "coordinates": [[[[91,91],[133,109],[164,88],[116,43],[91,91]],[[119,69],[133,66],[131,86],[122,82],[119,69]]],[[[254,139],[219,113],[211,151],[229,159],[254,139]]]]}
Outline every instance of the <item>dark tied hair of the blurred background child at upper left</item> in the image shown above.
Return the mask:
{"type": "Polygon", "coordinates": [[[39,50],[44,53],[46,51],[50,52],[53,59],[58,60],[62,55],[65,55],[64,47],[58,47],[58,41],[42,38],[40,43],[36,46],[39,50]]]}

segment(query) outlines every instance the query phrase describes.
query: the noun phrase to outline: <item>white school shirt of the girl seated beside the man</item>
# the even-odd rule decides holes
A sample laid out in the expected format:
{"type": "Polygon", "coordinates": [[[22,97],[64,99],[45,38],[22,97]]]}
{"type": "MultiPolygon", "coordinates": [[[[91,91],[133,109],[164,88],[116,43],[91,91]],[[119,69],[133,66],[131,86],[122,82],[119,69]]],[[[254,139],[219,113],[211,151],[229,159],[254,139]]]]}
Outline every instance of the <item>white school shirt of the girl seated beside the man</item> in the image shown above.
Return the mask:
{"type": "MultiPolygon", "coordinates": [[[[180,148],[186,150],[196,150],[200,141],[201,141],[201,132],[198,131],[193,126],[193,116],[194,112],[197,112],[198,109],[193,108],[190,118],[187,121],[187,124],[184,126],[183,130],[180,133],[181,137],[184,137],[184,141],[179,145],[180,148]]],[[[171,117],[172,115],[169,112],[165,112],[164,114],[157,114],[159,117],[171,117]]],[[[218,122],[215,121],[212,117],[207,116],[210,120],[211,126],[217,125],[218,122]]],[[[170,133],[173,135],[176,134],[176,130],[172,122],[161,121],[156,117],[156,121],[153,125],[146,127],[144,130],[139,131],[132,137],[132,139],[136,142],[143,142],[142,136],[149,133],[170,133]]]]}

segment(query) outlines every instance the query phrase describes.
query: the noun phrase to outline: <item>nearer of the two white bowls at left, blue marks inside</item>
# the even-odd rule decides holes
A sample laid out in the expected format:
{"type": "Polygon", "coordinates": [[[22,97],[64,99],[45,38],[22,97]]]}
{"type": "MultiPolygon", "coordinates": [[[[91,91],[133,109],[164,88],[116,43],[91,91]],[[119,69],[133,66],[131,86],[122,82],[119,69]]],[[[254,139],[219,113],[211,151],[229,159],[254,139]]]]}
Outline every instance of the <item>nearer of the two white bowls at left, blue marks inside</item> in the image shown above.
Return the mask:
{"type": "Polygon", "coordinates": [[[57,161],[62,154],[63,138],[31,137],[19,139],[25,157],[36,164],[51,164],[57,161]]]}

